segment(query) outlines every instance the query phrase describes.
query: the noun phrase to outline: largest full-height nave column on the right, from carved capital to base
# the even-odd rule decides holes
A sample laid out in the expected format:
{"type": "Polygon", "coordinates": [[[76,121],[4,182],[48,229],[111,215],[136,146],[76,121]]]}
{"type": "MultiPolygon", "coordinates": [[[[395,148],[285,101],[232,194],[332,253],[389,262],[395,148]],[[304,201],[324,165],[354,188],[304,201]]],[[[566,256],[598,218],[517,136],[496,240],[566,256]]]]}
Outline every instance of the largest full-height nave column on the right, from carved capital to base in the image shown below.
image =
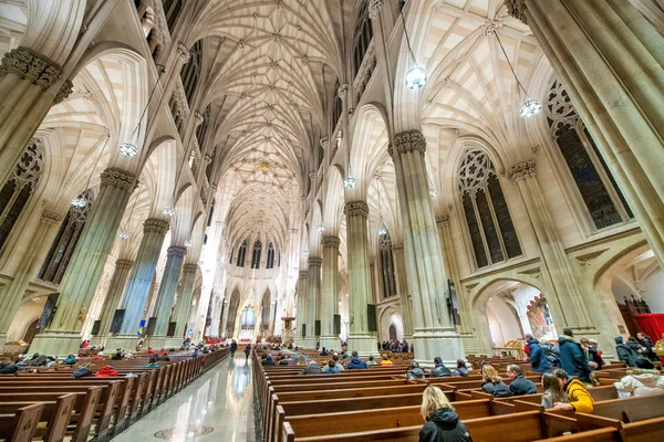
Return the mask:
{"type": "Polygon", "coordinates": [[[403,131],[395,136],[388,150],[394,160],[404,227],[415,356],[425,364],[432,364],[436,356],[453,362],[465,354],[447,313],[447,272],[428,194],[426,140],[419,130],[403,131]]]}

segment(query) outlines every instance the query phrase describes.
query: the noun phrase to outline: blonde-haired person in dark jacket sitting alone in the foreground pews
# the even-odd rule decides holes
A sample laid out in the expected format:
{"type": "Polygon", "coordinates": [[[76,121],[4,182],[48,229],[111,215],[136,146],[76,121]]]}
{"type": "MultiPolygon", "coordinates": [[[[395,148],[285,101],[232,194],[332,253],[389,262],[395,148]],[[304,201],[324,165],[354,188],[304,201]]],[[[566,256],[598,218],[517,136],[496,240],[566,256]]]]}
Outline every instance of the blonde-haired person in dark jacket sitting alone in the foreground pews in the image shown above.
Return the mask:
{"type": "Polygon", "coordinates": [[[428,386],[422,394],[419,442],[473,442],[449,400],[438,387],[428,386]]]}

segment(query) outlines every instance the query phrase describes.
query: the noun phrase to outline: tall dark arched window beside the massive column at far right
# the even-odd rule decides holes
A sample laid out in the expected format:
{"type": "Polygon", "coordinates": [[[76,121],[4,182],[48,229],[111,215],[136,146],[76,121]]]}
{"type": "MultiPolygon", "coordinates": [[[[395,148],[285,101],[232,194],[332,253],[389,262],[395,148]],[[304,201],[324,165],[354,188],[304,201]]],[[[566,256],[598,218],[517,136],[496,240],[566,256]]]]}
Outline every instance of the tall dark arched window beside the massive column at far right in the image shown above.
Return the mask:
{"type": "Polygon", "coordinates": [[[547,120],[595,229],[634,218],[570,96],[558,80],[549,92],[547,120]]]}

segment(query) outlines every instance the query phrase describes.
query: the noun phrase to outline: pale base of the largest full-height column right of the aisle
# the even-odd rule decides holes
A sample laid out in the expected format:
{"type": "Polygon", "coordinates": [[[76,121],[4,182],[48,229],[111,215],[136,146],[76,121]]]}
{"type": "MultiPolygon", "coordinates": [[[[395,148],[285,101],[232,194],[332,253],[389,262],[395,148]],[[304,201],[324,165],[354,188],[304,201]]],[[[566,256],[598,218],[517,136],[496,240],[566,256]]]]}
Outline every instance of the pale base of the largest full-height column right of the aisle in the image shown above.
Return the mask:
{"type": "Polygon", "coordinates": [[[415,329],[413,334],[415,359],[422,367],[433,367],[439,356],[448,367],[456,367],[457,359],[465,359],[464,343],[458,333],[449,328],[415,329]]]}

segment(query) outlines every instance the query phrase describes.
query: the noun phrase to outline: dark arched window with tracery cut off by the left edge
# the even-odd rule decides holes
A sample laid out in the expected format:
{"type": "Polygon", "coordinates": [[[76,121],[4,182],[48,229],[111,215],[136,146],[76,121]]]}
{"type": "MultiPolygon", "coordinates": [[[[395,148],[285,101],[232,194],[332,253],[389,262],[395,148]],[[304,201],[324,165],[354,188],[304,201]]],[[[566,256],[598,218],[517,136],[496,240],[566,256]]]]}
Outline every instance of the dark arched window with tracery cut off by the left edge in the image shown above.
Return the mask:
{"type": "Polygon", "coordinates": [[[37,140],[25,147],[21,159],[0,190],[0,250],[9,238],[44,169],[43,148],[37,140]]]}

